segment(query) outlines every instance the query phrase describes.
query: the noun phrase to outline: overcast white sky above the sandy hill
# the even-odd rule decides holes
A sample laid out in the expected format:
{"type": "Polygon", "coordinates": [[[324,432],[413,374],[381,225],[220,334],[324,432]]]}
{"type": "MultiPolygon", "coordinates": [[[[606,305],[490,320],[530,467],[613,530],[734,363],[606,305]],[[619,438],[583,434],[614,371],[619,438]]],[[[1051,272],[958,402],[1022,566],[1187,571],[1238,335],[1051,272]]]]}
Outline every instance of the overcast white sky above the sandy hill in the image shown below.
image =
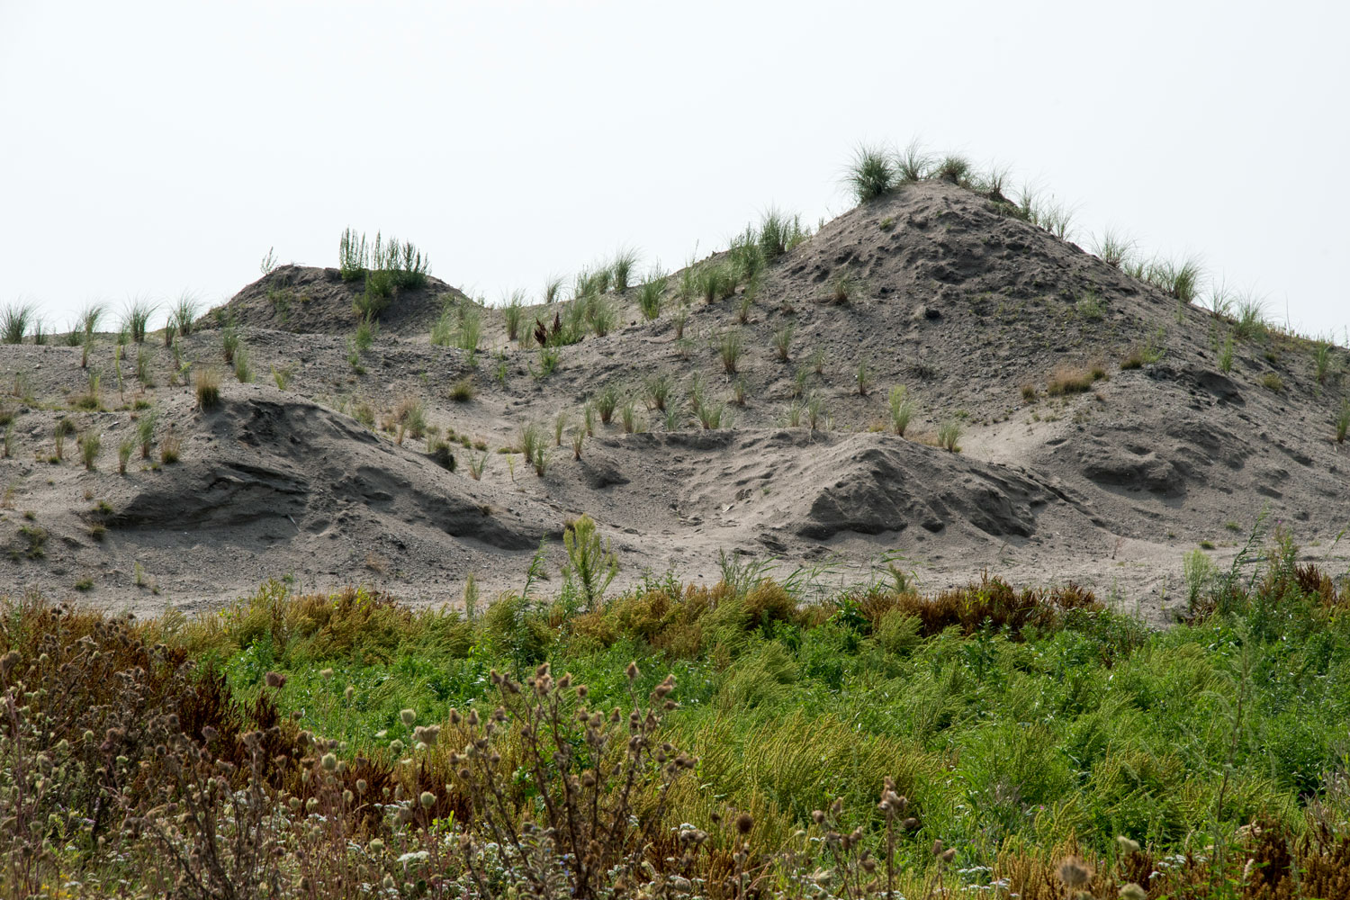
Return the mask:
{"type": "Polygon", "coordinates": [[[860,140],[1010,166],[1345,340],[1345,3],[0,0],[0,304],[228,298],[346,225],[490,301],[667,267],[860,140]]]}

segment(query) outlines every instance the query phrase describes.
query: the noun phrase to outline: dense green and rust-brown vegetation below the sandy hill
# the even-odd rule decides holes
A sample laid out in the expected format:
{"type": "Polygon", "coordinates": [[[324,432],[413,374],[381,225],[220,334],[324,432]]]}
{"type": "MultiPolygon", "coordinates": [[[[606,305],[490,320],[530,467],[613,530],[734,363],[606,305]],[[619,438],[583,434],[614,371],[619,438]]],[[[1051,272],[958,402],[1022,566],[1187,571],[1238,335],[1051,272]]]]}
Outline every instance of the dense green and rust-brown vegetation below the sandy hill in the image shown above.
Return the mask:
{"type": "Polygon", "coordinates": [[[734,565],[473,619],[279,583],[196,621],[11,600],[0,882],[1346,896],[1347,598],[1287,540],[1264,559],[1188,565],[1166,633],[1073,586],[803,602],[734,565]]]}

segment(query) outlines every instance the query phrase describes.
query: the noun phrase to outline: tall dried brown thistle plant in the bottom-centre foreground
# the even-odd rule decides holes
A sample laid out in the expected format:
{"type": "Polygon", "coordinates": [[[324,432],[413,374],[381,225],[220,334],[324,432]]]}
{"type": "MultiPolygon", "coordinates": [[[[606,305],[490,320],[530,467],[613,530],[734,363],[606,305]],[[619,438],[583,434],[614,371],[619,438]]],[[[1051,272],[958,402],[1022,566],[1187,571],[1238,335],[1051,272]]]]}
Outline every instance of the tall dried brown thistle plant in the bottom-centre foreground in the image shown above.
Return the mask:
{"type": "MultiPolygon", "coordinates": [[[[570,673],[554,677],[547,663],[524,683],[494,669],[491,715],[451,712],[466,737],[466,752],[451,754],[451,765],[474,808],[459,854],[479,896],[498,896],[487,884],[489,854],[506,862],[518,881],[510,893],[521,896],[618,896],[621,885],[651,877],[643,849],[666,837],[671,789],[697,761],[660,739],[663,715],[678,707],[670,699],[674,676],[645,704],[639,677],[629,664],[628,715],[618,707],[591,710],[589,688],[570,673]],[[510,781],[514,764],[504,753],[512,749],[540,797],[540,820],[525,828],[500,787],[510,781]],[[639,797],[648,800],[640,807],[639,797]]],[[[691,855],[706,839],[697,833],[693,847],[683,839],[678,846],[691,855]]]]}

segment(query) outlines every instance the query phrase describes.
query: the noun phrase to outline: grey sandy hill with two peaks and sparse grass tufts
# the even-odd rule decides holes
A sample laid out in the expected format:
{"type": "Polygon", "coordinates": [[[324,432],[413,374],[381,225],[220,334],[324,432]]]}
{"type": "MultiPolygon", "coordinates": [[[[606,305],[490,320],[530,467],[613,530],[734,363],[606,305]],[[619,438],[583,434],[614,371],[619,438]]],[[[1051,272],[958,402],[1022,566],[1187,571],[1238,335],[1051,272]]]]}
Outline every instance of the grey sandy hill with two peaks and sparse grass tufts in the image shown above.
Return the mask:
{"type": "Polygon", "coordinates": [[[941,181],[845,213],[705,302],[734,259],[671,275],[653,320],[640,287],[593,282],[520,310],[514,339],[505,310],[431,279],[393,298],[367,349],[363,283],[286,266],[198,320],[177,358],[151,336],[144,382],[131,347],[120,391],[101,336],[99,409],[80,407],[81,348],[0,347],[18,379],[0,583],[155,609],[289,575],[437,602],[471,572],[489,592],[517,584],[586,511],[624,579],[714,579],[725,551],[837,587],[887,559],[929,586],[984,568],[1075,579],[1161,619],[1183,555],[1203,544],[1224,564],[1264,509],[1314,556],[1341,553],[1339,348],[1319,364],[1312,341],[1238,328],[941,181]],[[533,344],[535,322],[568,318],[579,341],[533,344]],[[254,381],[230,376],[227,333],[254,381]],[[217,409],[197,407],[178,359],[227,374],[217,409]],[[151,456],[138,444],[119,475],[117,445],[151,414],[151,456]],[[53,463],[63,418],[76,433],[53,463]],[[163,464],[170,428],[181,459],[163,464]],[[84,433],[103,439],[96,471],[84,433]],[[446,439],[454,471],[432,452],[446,439]]]}

